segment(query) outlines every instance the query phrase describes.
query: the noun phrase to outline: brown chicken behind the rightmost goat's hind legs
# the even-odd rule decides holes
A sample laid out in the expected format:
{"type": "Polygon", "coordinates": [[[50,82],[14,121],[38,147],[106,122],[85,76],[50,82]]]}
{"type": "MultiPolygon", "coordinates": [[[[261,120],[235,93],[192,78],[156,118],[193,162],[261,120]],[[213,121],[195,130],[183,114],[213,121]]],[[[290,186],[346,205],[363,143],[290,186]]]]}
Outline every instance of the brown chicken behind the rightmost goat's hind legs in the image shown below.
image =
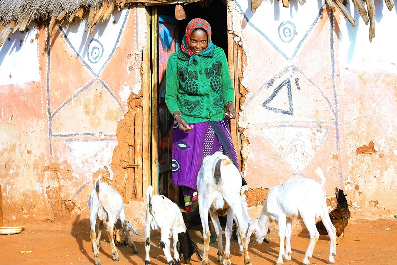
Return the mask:
{"type": "MultiPolygon", "coordinates": [[[[338,188],[335,188],[335,195],[338,204],[334,210],[329,212],[329,217],[332,221],[332,224],[336,228],[336,244],[339,245],[339,240],[343,238],[344,229],[350,219],[350,210],[345,198],[347,194],[344,194],[342,189],[338,190],[338,188]]],[[[320,235],[328,234],[327,229],[325,228],[322,221],[317,222],[316,227],[320,235]]]]}

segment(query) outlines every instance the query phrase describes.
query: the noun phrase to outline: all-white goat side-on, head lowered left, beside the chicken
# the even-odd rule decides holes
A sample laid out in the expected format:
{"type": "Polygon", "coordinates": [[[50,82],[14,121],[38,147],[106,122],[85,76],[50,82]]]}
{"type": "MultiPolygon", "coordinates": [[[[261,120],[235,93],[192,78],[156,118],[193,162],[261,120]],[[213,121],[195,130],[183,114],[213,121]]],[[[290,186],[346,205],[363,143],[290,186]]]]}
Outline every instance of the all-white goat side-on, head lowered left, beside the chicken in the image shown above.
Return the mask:
{"type": "MultiPolygon", "coordinates": [[[[321,183],[303,178],[288,181],[282,185],[274,186],[269,190],[261,215],[255,219],[249,228],[248,238],[252,233],[261,243],[265,238],[269,225],[278,223],[278,238],[280,251],[276,264],[291,260],[291,228],[293,219],[303,219],[310,234],[310,243],[307,248],[303,264],[310,264],[309,258],[313,255],[314,246],[319,239],[315,219],[320,217],[331,239],[328,263],[334,263],[336,255],[336,229],[332,225],[327,211],[325,177],[323,171],[316,167],[315,172],[321,179],[321,183]],[[284,237],[286,238],[284,252],[284,237]]],[[[249,241],[248,241],[249,243],[249,241]]]]}

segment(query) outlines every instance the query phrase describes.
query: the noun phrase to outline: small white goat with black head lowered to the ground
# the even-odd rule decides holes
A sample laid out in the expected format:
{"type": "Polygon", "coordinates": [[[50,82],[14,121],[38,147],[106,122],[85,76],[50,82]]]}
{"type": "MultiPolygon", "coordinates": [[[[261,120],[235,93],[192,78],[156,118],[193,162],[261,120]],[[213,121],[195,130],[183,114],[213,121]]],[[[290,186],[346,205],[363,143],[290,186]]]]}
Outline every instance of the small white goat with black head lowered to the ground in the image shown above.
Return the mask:
{"type": "Polygon", "coordinates": [[[180,265],[180,255],[183,254],[185,263],[189,263],[193,253],[201,261],[197,245],[190,239],[179,207],[163,195],[152,195],[153,187],[146,191],[147,206],[145,218],[145,265],[150,264],[150,227],[161,232],[160,245],[169,265],[174,265],[170,253],[170,237],[173,237],[174,259],[180,265]],[[179,242],[179,249],[177,245],[179,242]]]}

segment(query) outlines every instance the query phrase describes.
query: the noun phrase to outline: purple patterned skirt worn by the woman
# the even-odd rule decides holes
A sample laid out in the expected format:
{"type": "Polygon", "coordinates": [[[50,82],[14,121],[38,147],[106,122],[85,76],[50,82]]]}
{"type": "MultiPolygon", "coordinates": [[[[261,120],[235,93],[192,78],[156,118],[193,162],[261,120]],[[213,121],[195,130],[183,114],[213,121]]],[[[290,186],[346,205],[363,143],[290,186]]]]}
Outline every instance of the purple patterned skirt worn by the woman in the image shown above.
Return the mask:
{"type": "Polygon", "coordinates": [[[226,118],[211,124],[210,122],[187,124],[193,125],[194,128],[190,132],[182,132],[178,123],[174,121],[172,157],[174,184],[197,190],[197,174],[202,161],[204,157],[216,151],[228,155],[238,168],[236,150],[226,118]]]}

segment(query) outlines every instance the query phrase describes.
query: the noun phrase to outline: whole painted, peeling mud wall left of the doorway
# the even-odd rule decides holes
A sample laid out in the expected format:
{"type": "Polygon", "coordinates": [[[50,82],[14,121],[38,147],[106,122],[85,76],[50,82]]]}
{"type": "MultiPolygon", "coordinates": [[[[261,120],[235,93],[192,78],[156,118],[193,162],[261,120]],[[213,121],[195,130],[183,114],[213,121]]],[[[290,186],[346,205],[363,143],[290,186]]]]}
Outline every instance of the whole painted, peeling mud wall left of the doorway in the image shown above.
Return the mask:
{"type": "Polygon", "coordinates": [[[0,48],[4,225],[88,218],[99,170],[131,199],[125,166],[143,108],[146,11],[115,10],[92,35],[85,21],[54,38],[32,24],[0,48]]]}

